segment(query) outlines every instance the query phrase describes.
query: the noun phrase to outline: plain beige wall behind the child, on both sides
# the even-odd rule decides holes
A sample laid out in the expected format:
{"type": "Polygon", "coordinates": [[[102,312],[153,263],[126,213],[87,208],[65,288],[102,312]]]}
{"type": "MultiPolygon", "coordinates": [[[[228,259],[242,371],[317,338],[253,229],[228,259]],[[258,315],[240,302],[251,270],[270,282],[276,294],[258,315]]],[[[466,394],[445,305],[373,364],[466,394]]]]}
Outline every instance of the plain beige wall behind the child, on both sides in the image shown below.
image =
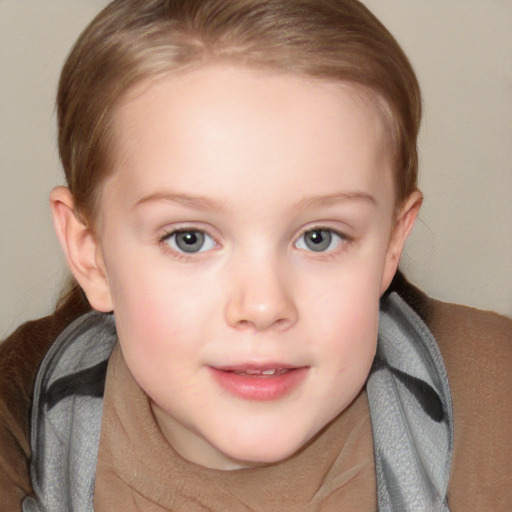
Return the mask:
{"type": "MultiPolygon", "coordinates": [[[[104,0],[0,0],[0,337],[49,313],[65,275],[48,193],[61,182],[58,73],[104,0]]],[[[512,316],[512,2],[365,0],[424,93],[425,203],[402,268],[438,298],[512,316]]]]}

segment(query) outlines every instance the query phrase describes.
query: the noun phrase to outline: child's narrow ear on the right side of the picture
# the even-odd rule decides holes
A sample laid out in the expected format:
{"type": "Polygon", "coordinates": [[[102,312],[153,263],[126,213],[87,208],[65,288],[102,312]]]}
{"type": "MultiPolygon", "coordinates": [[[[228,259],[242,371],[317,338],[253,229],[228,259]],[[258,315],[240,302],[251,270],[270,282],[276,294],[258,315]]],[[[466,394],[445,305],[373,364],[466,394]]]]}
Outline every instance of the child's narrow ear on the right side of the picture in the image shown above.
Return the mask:
{"type": "Polygon", "coordinates": [[[386,291],[396,273],[405,241],[412,231],[422,202],[421,192],[415,190],[400,208],[389,240],[381,282],[381,295],[386,291]]]}

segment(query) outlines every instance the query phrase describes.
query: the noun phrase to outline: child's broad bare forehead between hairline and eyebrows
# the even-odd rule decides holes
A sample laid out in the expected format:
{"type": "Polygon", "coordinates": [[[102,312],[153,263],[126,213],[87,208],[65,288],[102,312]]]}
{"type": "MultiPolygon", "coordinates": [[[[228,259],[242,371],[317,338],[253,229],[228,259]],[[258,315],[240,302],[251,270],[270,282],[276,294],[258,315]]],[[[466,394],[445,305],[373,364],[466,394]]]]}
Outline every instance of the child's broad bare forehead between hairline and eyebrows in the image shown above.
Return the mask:
{"type": "Polygon", "coordinates": [[[392,174],[387,125],[379,99],[354,85],[203,67],[125,97],[114,117],[117,165],[109,181],[131,183],[136,195],[171,182],[282,194],[308,179],[318,193],[336,184],[372,192],[392,174]]]}

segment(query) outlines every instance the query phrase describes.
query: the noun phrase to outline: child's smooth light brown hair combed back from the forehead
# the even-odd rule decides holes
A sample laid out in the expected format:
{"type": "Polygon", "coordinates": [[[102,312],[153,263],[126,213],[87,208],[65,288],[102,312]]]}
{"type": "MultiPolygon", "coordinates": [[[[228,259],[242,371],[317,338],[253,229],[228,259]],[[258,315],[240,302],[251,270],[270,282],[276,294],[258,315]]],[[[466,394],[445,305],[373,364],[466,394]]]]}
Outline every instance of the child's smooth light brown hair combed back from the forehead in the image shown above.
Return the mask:
{"type": "Polygon", "coordinates": [[[369,91],[390,128],[396,204],[417,188],[419,85],[399,44],[359,1],[115,0],[81,34],[59,83],[59,153],[78,213],[97,216],[115,167],[115,111],[127,93],[215,62],[369,91]]]}

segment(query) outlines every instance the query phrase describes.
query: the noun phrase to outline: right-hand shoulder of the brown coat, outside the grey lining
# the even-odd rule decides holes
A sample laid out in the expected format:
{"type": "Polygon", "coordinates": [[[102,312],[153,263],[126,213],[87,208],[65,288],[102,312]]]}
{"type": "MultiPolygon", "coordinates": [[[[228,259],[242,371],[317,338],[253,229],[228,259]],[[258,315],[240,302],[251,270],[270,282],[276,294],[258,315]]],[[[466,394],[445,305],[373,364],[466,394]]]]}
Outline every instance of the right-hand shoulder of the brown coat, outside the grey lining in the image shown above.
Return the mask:
{"type": "Polygon", "coordinates": [[[512,506],[512,320],[427,297],[408,285],[406,300],[443,356],[454,412],[452,510],[512,506]]]}

